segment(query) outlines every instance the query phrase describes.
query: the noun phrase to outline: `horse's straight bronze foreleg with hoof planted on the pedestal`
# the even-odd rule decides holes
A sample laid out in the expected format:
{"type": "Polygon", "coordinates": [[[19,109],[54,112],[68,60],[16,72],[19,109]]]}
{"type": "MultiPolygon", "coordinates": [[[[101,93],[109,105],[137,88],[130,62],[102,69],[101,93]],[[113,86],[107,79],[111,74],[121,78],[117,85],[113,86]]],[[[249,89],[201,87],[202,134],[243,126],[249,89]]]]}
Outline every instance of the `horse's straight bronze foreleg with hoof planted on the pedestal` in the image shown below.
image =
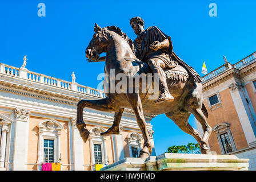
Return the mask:
{"type": "Polygon", "coordinates": [[[146,128],[146,121],[143,115],[143,108],[141,104],[141,98],[139,97],[139,94],[127,93],[127,99],[133,107],[134,113],[136,115],[137,123],[139,128],[142,131],[143,139],[144,139],[144,146],[141,151],[139,151],[139,158],[146,159],[150,156],[152,152],[152,146],[149,139],[149,133],[147,132],[146,128]]]}

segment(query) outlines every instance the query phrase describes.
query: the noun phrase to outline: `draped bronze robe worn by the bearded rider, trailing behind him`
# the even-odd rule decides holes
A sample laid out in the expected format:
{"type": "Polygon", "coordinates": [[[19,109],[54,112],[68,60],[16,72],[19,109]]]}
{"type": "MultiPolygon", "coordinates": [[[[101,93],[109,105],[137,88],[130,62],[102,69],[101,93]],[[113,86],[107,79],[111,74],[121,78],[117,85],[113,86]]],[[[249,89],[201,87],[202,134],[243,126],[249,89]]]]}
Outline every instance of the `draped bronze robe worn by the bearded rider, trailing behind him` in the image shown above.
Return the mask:
{"type": "Polygon", "coordinates": [[[134,48],[135,56],[138,59],[147,62],[149,59],[156,57],[161,59],[166,64],[167,68],[174,68],[175,65],[179,64],[187,70],[190,78],[192,78],[194,82],[202,82],[198,73],[173,52],[170,36],[163,33],[158,27],[152,26],[141,32],[134,40],[134,48]],[[157,51],[150,48],[150,44],[155,41],[163,42],[165,39],[170,40],[170,46],[168,48],[158,49],[157,51]]]}

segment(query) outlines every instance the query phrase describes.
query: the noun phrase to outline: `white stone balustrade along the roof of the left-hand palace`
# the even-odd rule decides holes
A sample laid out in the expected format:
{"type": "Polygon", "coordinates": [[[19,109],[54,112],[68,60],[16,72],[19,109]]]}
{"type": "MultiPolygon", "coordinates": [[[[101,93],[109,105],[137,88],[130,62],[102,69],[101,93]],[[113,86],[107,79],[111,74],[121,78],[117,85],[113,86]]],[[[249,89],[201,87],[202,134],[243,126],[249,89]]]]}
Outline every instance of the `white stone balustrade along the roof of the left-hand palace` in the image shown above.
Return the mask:
{"type": "Polygon", "coordinates": [[[16,68],[10,65],[0,63],[0,74],[10,75],[13,77],[23,78],[25,80],[39,82],[41,84],[46,84],[50,86],[56,86],[58,88],[73,90],[82,94],[87,94],[90,96],[105,98],[105,94],[102,90],[90,88],[89,86],[79,85],[76,82],[70,82],[61,80],[59,78],[54,78],[51,76],[46,76],[41,73],[31,72],[25,68],[16,68]]]}

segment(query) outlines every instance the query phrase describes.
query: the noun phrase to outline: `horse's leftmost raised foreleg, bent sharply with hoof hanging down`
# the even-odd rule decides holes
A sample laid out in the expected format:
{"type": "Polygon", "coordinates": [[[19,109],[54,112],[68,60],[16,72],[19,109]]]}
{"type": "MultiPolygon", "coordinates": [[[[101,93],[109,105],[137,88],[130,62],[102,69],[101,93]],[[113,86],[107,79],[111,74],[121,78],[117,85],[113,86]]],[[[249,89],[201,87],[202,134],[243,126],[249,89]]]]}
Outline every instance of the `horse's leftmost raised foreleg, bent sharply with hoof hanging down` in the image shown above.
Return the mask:
{"type": "Polygon", "coordinates": [[[83,142],[86,142],[90,132],[86,129],[86,124],[83,122],[83,108],[89,107],[90,109],[100,111],[117,111],[111,106],[109,98],[103,98],[101,100],[81,100],[77,104],[77,128],[83,142]]]}

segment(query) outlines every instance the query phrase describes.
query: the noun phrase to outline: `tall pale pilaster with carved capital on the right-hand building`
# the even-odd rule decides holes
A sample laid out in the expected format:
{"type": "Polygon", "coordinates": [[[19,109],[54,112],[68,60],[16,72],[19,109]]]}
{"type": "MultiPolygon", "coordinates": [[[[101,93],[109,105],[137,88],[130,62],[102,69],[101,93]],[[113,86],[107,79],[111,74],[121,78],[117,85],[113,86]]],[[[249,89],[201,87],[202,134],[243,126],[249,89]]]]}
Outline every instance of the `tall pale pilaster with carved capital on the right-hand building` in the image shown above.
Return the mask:
{"type": "Polygon", "coordinates": [[[249,110],[246,107],[246,100],[242,93],[242,84],[238,82],[233,82],[229,85],[231,97],[233,99],[235,109],[239,120],[242,125],[243,133],[245,134],[248,145],[256,142],[255,134],[251,123],[253,123],[252,118],[250,117],[249,110]]]}

